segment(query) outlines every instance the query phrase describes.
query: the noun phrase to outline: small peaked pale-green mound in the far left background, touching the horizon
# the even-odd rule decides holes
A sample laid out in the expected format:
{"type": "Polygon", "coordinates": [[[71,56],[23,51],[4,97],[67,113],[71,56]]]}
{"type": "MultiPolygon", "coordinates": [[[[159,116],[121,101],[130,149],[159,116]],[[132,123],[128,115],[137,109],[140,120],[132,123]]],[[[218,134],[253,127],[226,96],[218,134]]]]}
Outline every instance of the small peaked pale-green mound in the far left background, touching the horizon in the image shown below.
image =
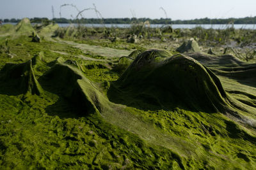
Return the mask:
{"type": "Polygon", "coordinates": [[[30,20],[24,18],[15,26],[15,31],[20,34],[31,34],[35,29],[31,26],[30,20]]]}

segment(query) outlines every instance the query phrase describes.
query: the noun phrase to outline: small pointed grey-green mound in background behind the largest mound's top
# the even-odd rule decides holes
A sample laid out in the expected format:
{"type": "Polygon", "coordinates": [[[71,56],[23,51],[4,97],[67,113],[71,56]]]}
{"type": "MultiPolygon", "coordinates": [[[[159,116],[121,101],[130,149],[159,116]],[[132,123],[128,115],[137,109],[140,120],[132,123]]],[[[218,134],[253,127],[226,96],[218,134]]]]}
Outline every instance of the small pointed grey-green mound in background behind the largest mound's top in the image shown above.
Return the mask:
{"type": "Polygon", "coordinates": [[[181,46],[179,46],[179,48],[177,48],[177,52],[200,52],[200,48],[195,39],[191,38],[188,41],[185,41],[181,46]]]}

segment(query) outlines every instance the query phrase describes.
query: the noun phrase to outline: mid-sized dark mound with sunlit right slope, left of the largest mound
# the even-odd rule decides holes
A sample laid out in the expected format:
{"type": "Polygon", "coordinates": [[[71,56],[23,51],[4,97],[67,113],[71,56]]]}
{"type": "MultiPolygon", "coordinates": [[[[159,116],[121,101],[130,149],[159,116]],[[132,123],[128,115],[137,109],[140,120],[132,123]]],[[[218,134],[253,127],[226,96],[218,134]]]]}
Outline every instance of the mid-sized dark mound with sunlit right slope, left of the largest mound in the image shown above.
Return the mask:
{"type": "Polygon", "coordinates": [[[74,104],[84,115],[102,109],[100,92],[81,71],[68,64],[55,64],[40,78],[45,90],[58,94],[74,104]]]}

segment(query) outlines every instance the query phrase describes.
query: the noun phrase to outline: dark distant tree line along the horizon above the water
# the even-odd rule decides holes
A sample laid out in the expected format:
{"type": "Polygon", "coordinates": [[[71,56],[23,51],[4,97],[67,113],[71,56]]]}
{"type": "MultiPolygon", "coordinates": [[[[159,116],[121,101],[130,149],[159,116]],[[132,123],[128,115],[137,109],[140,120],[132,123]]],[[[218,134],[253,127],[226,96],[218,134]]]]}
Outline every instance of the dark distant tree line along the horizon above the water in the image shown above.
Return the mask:
{"type": "MultiPolygon", "coordinates": [[[[31,22],[50,21],[48,18],[30,18],[31,22]]],[[[20,19],[4,19],[2,22],[20,22],[20,19]]],[[[53,18],[55,23],[80,23],[80,24],[131,24],[148,21],[150,24],[256,24],[256,17],[245,18],[200,18],[194,20],[172,20],[171,18],[53,18]]]]}

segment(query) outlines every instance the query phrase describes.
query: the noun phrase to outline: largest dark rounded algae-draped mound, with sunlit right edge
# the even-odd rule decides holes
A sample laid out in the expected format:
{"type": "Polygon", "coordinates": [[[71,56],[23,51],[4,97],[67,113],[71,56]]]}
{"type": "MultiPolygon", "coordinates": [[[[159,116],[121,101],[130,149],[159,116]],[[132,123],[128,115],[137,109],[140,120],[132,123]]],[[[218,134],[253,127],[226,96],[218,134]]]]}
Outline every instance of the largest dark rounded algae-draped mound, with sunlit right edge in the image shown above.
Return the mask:
{"type": "Polygon", "coordinates": [[[220,80],[198,61],[158,50],[140,53],[111,85],[109,98],[130,106],[225,112],[220,80]]]}

